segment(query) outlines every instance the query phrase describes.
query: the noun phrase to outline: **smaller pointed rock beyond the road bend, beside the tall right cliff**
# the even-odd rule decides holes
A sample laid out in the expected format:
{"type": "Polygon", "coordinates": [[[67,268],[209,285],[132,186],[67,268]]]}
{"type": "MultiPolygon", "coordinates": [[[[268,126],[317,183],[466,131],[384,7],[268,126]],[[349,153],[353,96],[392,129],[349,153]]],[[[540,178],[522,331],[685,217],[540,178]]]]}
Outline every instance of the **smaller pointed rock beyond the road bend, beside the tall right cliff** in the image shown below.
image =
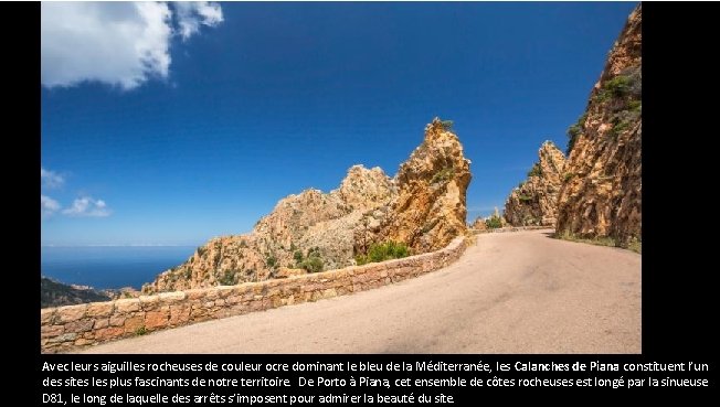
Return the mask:
{"type": "Polygon", "coordinates": [[[555,225],[565,156],[552,141],[546,141],[538,157],[528,179],[512,190],[505,202],[505,218],[511,226],[555,225]]]}

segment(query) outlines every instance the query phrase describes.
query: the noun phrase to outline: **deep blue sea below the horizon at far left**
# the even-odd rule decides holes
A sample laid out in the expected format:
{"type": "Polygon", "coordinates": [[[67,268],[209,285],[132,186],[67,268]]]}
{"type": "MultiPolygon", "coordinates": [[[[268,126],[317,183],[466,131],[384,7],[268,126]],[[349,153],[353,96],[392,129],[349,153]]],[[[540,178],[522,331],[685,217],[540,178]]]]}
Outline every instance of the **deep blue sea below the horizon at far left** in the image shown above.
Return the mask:
{"type": "Polygon", "coordinates": [[[44,277],[67,285],[140,289],[194,250],[194,246],[42,246],[40,269],[44,277]]]}

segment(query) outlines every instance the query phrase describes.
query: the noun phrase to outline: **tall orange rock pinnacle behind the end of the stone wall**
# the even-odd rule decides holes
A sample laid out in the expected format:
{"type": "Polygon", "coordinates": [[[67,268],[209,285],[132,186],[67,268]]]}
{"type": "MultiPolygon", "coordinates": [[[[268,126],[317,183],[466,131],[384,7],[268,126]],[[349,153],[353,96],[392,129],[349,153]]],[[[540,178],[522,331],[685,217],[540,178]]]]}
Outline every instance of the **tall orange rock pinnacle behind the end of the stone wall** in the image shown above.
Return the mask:
{"type": "Polygon", "coordinates": [[[427,125],[422,144],[395,176],[398,196],[381,236],[404,242],[414,253],[445,247],[466,231],[470,161],[451,127],[438,118],[427,125]]]}

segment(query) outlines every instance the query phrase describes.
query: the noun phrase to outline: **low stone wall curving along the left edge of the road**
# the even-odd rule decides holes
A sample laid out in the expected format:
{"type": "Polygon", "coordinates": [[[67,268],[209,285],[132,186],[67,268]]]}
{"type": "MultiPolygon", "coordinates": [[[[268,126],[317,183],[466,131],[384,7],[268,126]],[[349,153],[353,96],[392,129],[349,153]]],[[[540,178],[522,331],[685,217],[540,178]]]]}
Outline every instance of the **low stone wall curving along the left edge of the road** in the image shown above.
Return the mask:
{"type": "Polygon", "coordinates": [[[466,243],[396,260],[352,266],[287,279],[219,286],[41,310],[41,351],[77,350],[119,338],[240,315],[387,286],[455,261],[466,243]]]}

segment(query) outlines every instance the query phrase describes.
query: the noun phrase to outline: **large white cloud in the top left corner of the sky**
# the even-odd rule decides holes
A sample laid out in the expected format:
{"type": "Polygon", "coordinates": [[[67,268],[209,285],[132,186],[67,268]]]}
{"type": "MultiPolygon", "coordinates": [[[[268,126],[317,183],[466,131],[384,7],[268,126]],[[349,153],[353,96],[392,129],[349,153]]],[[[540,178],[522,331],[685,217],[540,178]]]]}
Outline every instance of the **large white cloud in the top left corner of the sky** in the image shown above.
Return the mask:
{"type": "MultiPolygon", "coordinates": [[[[219,4],[174,4],[179,34],[222,21],[219,4]]],[[[41,83],[100,82],[123,89],[166,78],[172,9],[165,2],[41,2],[41,83]]]]}

